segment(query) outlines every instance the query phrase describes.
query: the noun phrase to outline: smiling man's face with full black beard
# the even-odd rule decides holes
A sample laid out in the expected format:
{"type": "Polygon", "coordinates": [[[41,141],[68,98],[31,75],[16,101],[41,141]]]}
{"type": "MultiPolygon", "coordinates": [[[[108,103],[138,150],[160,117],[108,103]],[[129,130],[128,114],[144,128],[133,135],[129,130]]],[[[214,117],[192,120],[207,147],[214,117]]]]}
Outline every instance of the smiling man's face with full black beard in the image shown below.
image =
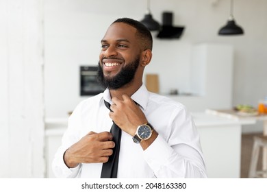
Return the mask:
{"type": "Polygon", "coordinates": [[[125,23],[114,23],[101,40],[99,80],[103,86],[117,89],[133,81],[140,62],[136,29],[125,23]]]}

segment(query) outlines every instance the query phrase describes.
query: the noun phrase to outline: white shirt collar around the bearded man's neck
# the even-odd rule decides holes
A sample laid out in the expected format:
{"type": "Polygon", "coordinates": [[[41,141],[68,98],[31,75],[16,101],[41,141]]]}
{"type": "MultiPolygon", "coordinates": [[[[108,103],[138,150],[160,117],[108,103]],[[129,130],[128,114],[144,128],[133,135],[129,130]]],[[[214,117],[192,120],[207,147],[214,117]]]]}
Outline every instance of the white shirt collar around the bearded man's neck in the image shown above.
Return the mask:
{"type": "MultiPolygon", "coordinates": [[[[109,89],[105,89],[105,91],[103,92],[103,99],[111,104],[109,89]]],[[[133,101],[136,101],[136,103],[138,103],[139,106],[143,108],[143,110],[146,110],[147,104],[149,102],[149,91],[147,91],[146,86],[142,84],[142,86],[140,86],[138,91],[136,91],[136,93],[133,93],[133,95],[131,95],[131,99],[133,99],[133,101]]]]}

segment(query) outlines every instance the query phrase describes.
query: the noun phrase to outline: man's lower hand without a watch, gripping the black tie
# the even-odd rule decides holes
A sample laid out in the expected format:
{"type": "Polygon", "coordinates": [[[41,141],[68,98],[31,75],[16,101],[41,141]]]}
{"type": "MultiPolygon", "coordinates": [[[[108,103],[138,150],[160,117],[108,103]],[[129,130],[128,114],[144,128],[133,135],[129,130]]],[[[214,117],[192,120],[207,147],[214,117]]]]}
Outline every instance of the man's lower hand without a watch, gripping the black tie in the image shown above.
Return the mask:
{"type": "Polygon", "coordinates": [[[79,163],[106,163],[114,147],[110,132],[89,132],[66,149],[64,162],[69,168],[77,167],[79,163]]]}

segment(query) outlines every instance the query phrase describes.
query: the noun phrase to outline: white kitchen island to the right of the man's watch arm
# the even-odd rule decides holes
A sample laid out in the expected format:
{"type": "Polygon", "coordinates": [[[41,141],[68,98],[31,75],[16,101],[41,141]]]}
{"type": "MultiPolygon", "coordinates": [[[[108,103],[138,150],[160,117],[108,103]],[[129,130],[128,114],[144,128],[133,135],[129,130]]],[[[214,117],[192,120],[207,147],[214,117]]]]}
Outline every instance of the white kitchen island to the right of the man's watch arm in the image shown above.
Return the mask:
{"type": "Polygon", "coordinates": [[[193,114],[209,178],[240,178],[242,125],[239,121],[205,113],[193,114]]]}

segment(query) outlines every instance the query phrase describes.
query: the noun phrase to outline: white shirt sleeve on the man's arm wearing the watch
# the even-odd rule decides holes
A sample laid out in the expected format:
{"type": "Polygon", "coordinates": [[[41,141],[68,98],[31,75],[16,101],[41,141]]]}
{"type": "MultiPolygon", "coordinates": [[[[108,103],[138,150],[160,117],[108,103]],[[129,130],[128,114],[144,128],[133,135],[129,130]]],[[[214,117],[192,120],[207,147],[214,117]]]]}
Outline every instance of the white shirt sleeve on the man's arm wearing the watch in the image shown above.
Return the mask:
{"type": "Polygon", "coordinates": [[[207,178],[199,134],[192,117],[183,108],[175,112],[169,124],[168,133],[159,133],[144,151],[155,177],[207,178]]]}

